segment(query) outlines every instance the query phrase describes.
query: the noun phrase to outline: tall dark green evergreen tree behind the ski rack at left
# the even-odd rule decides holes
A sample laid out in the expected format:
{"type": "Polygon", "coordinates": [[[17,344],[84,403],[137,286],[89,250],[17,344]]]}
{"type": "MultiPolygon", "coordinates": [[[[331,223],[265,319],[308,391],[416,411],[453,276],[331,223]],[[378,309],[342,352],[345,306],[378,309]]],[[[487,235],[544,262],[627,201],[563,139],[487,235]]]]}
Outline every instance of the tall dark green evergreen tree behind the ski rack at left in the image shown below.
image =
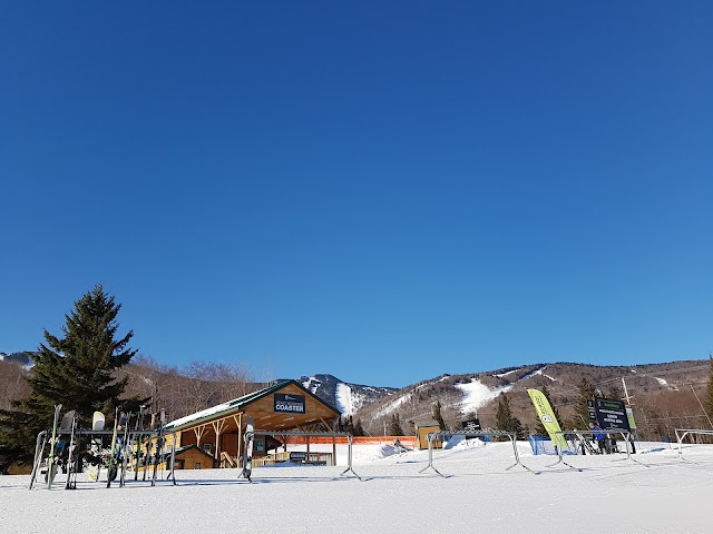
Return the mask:
{"type": "MultiPolygon", "coordinates": [[[[136,350],[127,348],[134,333],[115,339],[121,305],[96,285],[66,315],[62,337],[45,330],[45,343],[32,355],[27,398],[13,400],[13,409],[0,411],[0,463],[27,463],[33,457],[37,434],[51,426],[53,406],[76,409],[85,422],[95,411],[113,414],[128,378],[114,372],[129,363],[136,350]]],[[[138,404],[143,399],[131,399],[138,404]]],[[[0,466],[1,467],[1,466],[0,466]]]]}

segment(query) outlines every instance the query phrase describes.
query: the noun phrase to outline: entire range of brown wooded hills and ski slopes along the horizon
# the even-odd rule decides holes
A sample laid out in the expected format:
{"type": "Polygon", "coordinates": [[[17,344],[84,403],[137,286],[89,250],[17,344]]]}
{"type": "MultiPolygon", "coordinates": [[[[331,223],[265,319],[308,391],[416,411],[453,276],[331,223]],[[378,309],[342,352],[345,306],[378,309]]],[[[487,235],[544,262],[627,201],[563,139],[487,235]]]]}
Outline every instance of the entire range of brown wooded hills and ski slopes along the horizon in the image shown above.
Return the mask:
{"type": "MultiPolygon", "coordinates": [[[[0,360],[0,408],[9,399],[29,393],[25,377],[32,370],[17,360],[0,360]]],[[[446,427],[459,428],[462,421],[480,419],[484,427],[496,426],[498,402],[504,394],[515,416],[526,431],[536,426],[536,415],[527,395],[528,388],[546,387],[553,405],[561,416],[563,426],[585,427],[586,422],[575,408],[582,394],[583,380],[592,384],[606,398],[628,400],[639,434],[661,439],[678,427],[710,428],[705,406],[711,374],[710,360],[682,360],[666,364],[636,366],[595,366],[575,363],[534,364],[491,372],[441,375],[402,389],[359,386],[372,396],[360,397],[361,407],[353,413],[354,423],[368,434],[382,435],[394,417],[406,434],[413,432],[413,423],[433,418],[440,412],[446,427]],[[625,390],[626,387],[626,390],[625,390]]],[[[126,397],[150,397],[153,409],[166,409],[169,418],[178,418],[237,398],[266,385],[255,380],[248,370],[237,364],[193,362],[183,367],[167,366],[153,358],[136,356],[117,372],[117,378],[128,377],[126,397]]],[[[319,375],[331,377],[331,375],[319,375]]],[[[344,411],[343,402],[335,399],[338,386],[350,385],[331,377],[334,387],[314,387],[314,377],[305,386],[330,404],[344,411]]],[[[354,388],[351,385],[351,388],[354,388]]],[[[354,389],[356,390],[356,389],[354,389]]],[[[345,413],[345,418],[350,414],[345,413]]]]}

